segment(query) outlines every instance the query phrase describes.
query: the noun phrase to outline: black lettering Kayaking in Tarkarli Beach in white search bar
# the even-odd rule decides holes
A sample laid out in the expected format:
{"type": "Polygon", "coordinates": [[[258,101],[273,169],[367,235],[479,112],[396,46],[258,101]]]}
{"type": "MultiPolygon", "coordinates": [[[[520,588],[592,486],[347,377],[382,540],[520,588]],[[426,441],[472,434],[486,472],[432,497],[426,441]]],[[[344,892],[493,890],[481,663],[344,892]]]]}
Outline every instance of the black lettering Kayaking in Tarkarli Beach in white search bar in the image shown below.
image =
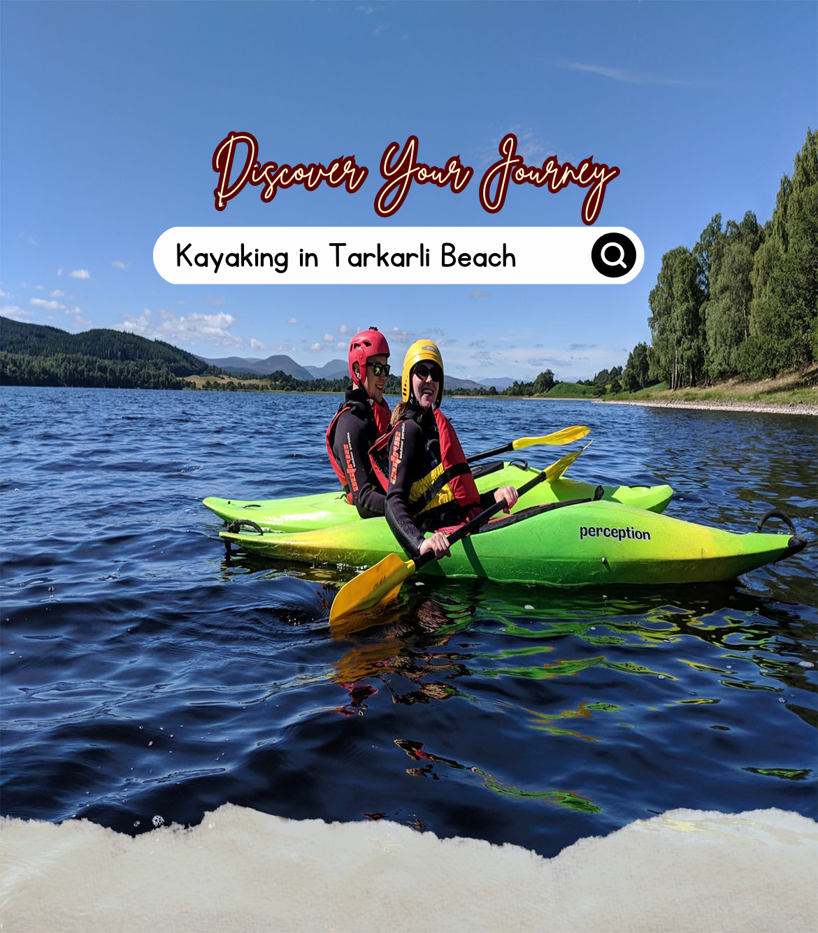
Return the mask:
{"type": "MultiPolygon", "coordinates": [[[[374,251],[355,251],[347,250],[346,243],[330,243],[327,246],[331,249],[330,262],[336,269],[342,265],[349,266],[352,269],[367,269],[377,267],[393,269],[419,268],[427,269],[432,263],[430,261],[430,250],[424,244],[418,244],[417,250],[406,250],[399,252],[393,250],[391,253],[383,249],[381,244],[374,247],[374,251]]],[[[222,263],[229,269],[275,269],[275,272],[284,274],[289,268],[289,251],[281,250],[277,253],[266,252],[264,250],[248,248],[245,244],[239,244],[238,248],[232,252],[210,253],[198,252],[193,250],[193,244],[189,243],[183,246],[176,243],[176,269],[192,269],[196,266],[199,269],[212,269],[214,275],[219,272],[222,263]]],[[[299,249],[298,264],[302,268],[318,267],[317,253],[310,250],[299,249]]],[[[453,243],[441,244],[440,266],[442,269],[451,269],[454,266],[463,268],[475,266],[486,269],[487,267],[503,269],[516,268],[516,259],[514,253],[510,252],[506,244],[502,244],[502,252],[487,252],[477,250],[473,253],[456,253],[456,246],[453,243]]]]}

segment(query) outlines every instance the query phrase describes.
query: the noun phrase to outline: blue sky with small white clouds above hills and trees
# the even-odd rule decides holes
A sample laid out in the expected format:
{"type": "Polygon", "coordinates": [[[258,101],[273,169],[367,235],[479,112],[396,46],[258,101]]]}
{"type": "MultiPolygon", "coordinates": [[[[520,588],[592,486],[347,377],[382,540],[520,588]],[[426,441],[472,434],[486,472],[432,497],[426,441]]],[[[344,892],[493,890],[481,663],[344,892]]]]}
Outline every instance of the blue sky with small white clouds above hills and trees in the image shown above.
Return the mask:
{"type": "Polygon", "coordinates": [[[818,124],[814,3],[19,3],[2,15],[0,313],[121,327],[200,355],[320,366],[374,324],[392,355],[430,335],[459,377],[575,380],[649,340],[662,254],[711,216],[771,216],[818,124]],[[249,186],[214,208],[213,151],[251,132],[262,161],[354,154],[370,175],[249,186]],[[515,132],[549,155],[616,165],[598,226],[645,249],[628,285],[170,285],[152,250],[175,226],[579,226],[585,191],[477,181],[515,132]],[[374,213],[384,149],[419,139],[475,178],[413,186],[374,213]]]}

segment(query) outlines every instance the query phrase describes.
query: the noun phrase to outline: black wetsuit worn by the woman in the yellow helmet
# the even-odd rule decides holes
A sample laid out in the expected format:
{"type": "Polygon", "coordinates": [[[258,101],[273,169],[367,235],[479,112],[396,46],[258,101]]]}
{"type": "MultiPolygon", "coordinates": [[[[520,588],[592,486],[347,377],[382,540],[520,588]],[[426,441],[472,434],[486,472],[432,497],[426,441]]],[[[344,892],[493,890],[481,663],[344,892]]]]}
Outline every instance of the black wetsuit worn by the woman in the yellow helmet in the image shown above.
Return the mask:
{"type": "MultiPolygon", "coordinates": [[[[397,464],[390,462],[388,465],[387,522],[402,549],[410,556],[417,556],[423,544],[424,532],[460,524],[466,516],[463,508],[452,500],[418,515],[416,521],[413,521],[409,512],[409,491],[413,483],[428,476],[441,462],[440,437],[431,409],[422,411],[414,405],[403,412],[395,433],[401,435],[402,456],[397,464]]],[[[391,449],[390,441],[388,451],[391,452],[391,449]]],[[[493,503],[493,490],[481,494],[481,509],[493,503]]]]}

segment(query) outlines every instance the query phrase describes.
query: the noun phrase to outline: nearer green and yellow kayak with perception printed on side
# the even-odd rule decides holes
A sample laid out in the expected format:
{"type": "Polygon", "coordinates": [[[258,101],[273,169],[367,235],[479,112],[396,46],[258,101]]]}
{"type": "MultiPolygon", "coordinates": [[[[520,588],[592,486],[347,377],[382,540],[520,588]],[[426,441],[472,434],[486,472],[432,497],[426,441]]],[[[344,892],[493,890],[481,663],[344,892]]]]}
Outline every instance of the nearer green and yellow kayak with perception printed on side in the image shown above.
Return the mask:
{"type": "MultiPolygon", "coordinates": [[[[739,535],[610,499],[531,506],[526,498],[522,511],[488,522],[453,545],[451,557],[419,573],[554,587],[704,583],[739,577],[805,544],[791,522],[793,534],[739,535]]],[[[343,568],[372,566],[390,553],[407,557],[382,518],[306,532],[228,530],[221,537],[265,557],[343,568]]]]}

